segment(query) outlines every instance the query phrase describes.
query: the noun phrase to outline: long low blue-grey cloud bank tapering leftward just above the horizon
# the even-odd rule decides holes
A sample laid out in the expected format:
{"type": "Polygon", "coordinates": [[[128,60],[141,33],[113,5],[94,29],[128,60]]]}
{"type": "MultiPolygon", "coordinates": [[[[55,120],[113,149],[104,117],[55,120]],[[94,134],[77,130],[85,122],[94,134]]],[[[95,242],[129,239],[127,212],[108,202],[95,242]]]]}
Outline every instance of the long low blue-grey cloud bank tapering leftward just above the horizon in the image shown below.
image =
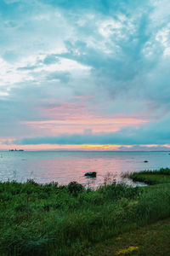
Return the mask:
{"type": "MultiPolygon", "coordinates": [[[[164,120],[165,122],[165,120],[164,120]]],[[[164,123],[162,122],[161,125],[164,123]]],[[[170,123],[169,123],[170,124],[170,123]]],[[[160,125],[160,126],[161,126],[160,125]]],[[[123,128],[121,131],[84,134],[61,134],[57,137],[32,137],[14,141],[16,144],[118,144],[148,145],[170,144],[169,125],[167,129],[160,127],[123,128]]]]}

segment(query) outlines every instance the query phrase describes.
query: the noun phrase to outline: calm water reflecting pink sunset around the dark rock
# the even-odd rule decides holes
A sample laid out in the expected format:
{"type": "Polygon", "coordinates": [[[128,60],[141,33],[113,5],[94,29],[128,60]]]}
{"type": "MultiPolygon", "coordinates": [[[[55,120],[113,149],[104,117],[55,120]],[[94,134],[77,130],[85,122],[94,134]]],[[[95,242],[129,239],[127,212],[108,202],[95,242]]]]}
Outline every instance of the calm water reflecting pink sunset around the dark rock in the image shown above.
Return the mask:
{"type": "Polygon", "coordinates": [[[161,167],[170,167],[168,152],[0,152],[1,181],[33,178],[38,183],[77,181],[96,187],[108,172],[121,181],[123,172],[161,167]],[[84,177],[85,172],[97,172],[97,177],[84,177]]]}

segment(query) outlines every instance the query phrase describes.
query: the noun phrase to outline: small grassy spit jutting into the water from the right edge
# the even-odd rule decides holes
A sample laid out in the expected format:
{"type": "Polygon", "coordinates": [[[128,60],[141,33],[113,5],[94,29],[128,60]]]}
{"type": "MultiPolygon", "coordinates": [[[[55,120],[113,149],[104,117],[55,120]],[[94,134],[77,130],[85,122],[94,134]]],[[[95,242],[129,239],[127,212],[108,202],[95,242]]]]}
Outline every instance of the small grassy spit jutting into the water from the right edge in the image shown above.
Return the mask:
{"type": "Polygon", "coordinates": [[[133,179],[135,182],[144,182],[150,185],[159,183],[170,183],[170,169],[161,168],[159,171],[143,171],[127,173],[124,177],[133,179]]]}

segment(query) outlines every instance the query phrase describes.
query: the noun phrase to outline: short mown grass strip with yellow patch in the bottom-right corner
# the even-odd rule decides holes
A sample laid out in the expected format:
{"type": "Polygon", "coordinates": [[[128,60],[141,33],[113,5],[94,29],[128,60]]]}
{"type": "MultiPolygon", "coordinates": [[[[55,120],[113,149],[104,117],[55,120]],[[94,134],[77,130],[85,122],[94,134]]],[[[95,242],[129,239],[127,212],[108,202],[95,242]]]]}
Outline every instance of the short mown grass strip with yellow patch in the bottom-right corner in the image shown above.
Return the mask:
{"type": "Polygon", "coordinates": [[[100,242],[91,247],[86,255],[168,256],[170,255],[170,218],[100,242]]]}

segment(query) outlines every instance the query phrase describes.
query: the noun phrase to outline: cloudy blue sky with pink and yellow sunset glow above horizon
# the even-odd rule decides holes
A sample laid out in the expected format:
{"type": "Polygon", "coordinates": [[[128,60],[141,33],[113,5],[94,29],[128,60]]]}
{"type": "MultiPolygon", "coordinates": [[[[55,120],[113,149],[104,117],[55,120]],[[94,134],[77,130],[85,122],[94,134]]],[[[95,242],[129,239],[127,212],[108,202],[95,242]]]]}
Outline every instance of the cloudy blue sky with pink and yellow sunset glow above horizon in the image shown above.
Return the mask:
{"type": "Polygon", "coordinates": [[[1,0],[0,149],[170,150],[169,0],[1,0]]]}

